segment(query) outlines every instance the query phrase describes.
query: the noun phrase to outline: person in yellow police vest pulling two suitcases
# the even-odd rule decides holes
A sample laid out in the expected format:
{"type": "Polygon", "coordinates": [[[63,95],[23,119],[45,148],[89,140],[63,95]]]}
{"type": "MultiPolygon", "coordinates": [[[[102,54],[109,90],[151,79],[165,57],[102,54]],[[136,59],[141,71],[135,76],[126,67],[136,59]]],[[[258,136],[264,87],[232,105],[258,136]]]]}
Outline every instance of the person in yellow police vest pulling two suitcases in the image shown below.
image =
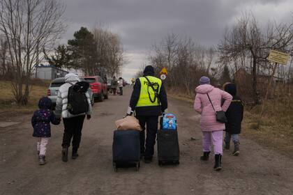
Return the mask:
{"type": "Polygon", "coordinates": [[[158,131],[158,116],[165,114],[167,109],[167,94],[163,83],[157,77],[151,65],[144,69],[144,76],[136,79],[130,106],[127,115],[135,111],[136,118],[140,120],[140,153],[144,162],[150,163],[153,159],[153,147],[156,143],[158,131]],[[147,139],[145,139],[145,125],[147,125],[147,139]]]}

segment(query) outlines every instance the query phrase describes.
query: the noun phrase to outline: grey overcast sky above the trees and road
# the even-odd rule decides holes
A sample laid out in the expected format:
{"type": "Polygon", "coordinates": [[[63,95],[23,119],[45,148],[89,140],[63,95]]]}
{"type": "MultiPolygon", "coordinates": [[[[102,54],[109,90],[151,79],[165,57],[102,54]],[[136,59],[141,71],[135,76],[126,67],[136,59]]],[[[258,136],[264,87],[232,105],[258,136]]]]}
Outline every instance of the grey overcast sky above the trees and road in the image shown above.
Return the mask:
{"type": "Polygon", "coordinates": [[[63,0],[68,31],[63,43],[86,26],[103,24],[121,36],[130,63],[122,76],[130,79],[146,63],[151,45],[167,33],[191,37],[202,45],[217,45],[226,27],[246,11],[260,24],[290,22],[293,0],[63,0]]]}

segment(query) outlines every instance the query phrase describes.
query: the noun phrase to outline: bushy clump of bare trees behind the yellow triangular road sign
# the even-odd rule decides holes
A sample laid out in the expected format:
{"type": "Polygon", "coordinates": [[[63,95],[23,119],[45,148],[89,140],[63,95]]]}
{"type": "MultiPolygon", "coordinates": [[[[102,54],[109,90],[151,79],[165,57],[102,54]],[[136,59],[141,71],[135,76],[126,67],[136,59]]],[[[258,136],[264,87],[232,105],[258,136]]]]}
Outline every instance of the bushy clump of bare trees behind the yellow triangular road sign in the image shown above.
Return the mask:
{"type": "Polygon", "coordinates": [[[209,75],[214,56],[212,48],[198,45],[191,38],[168,34],[162,42],[153,45],[149,63],[157,74],[161,68],[167,68],[167,86],[191,95],[198,79],[202,75],[209,75]]]}

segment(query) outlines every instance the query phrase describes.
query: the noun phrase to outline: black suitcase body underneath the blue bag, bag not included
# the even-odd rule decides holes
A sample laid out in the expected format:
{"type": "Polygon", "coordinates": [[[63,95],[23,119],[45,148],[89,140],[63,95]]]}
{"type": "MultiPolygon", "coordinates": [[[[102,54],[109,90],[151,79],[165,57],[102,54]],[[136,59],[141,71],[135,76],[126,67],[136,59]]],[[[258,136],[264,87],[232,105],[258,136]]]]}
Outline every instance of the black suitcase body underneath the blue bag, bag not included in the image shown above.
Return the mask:
{"type": "MultiPolygon", "coordinates": [[[[161,120],[162,123],[162,120],[161,120]]],[[[179,164],[179,141],[177,130],[158,130],[158,164],[179,164]]]]}

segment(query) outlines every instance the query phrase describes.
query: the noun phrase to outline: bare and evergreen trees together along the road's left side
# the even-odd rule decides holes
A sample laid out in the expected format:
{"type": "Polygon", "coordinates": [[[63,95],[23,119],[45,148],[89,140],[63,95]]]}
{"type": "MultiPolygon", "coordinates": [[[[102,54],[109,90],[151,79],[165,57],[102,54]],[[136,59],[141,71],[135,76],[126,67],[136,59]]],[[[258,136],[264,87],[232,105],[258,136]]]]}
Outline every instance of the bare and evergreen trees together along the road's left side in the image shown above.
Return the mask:
{"type": "Polygon", "coordinates": [[[0,10],[0,77],[11,81],[17,104],[27,104],[40,62],[111,77],[126,62],[119,35],[102,27],[82,27],[56,47],[67,27],[60,0],[1,0],[0,10]]]}

